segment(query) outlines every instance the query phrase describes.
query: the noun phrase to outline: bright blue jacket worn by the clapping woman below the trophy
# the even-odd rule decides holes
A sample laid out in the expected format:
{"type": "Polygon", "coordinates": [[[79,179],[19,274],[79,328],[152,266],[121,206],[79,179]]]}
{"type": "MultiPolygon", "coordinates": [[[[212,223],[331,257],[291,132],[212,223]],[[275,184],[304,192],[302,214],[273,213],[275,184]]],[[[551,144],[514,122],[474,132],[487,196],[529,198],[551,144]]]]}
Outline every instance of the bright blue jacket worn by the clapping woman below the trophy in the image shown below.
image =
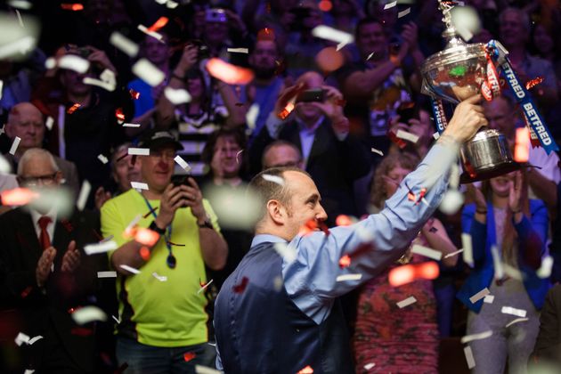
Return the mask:
{"type": "MultiPolygon", "coordinates": [[[[469,309],[479,313],[484,303],[483,299],[472,304],[469,297],[473,297],[477,292],[491,285],[495,272],[491,247],[497,240],[491,202],[487,203],[487,224],[478,223],[474,219],[475,213],[475,204],[467,205],[462,212],[462,231],[471,235],[473,243],[474,268],[462,288],[459,289],[457,297],[469,309]]],[[[532,299],[536,309],[541,309],[550,287],[549,280],[541,279],[536,275],[537,269],[528,264],[524,250],[539,247],[541,256],[543,256],[548,235],[548,210],[541,200],[531,199],[530,215],[530,219],[524,215],[522,221],[514,225],[518,234],[518,266],[523,274],[524,288],[528,292],[528,296],[532,299]]]]}

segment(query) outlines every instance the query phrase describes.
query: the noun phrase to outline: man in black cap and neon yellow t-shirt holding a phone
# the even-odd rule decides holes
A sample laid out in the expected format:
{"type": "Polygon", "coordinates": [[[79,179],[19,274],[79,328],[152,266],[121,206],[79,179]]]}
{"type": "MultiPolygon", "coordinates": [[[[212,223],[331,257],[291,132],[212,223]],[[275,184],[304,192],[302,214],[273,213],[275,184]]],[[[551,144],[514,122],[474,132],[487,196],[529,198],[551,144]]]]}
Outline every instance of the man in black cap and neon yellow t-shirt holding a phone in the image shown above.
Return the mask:
{"type": "Polygon", "coordinates": [[[102,207],[103,236],[118,245],[110,252],[118,273],[118,364],[126,362],[131,373],[212,366],[207,298],[200,289],[207,282],[205,264],[221,269],[228,248],[197,183],[191,177],[182,185],[170,183],[181,144],[159,131],[140,146],[150,150],[136,160],[138,182],[147,189],[131,189],[102,207]],[[134,236],[140,228],[149,228],[156,241],[134,236]]]}

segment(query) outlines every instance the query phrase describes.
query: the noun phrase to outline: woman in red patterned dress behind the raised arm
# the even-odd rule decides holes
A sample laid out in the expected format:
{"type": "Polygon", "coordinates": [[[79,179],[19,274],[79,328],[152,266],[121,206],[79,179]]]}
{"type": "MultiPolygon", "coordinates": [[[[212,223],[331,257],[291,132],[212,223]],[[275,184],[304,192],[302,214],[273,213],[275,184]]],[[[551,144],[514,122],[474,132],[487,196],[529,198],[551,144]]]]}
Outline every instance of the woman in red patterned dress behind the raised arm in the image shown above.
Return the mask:
{"type": "MultiPolygon", "coordinates": [[[[386,156],[376,169],[370,202],[381,210],[386,199],[399,188],[405,175],[417,167],[419,159],[406,153],[386,156]]],[[[405,201],[404,204],[413,201],[405,201]]],[[[400,287],[392,287],[387,276],[391,268],[400,264],[419,264],[426,257],[412,254],[414,244],[433,248],[443,256],[456,251],[443,224],[431,219],[413,240],[410,250],[390,269],[370,280],[359,295],[356,326],[354,329],[354,358],[356,372],[368,372],[375,363],[379,372],[438,371],[438,327],[436,301],[431,280],[414,280],[400,287]],[[400,308],[397,303],[415,297],[414,304],[400,308]]],[[[443,264],[453,266],[457,256],[443,259],[443,264]]]]}

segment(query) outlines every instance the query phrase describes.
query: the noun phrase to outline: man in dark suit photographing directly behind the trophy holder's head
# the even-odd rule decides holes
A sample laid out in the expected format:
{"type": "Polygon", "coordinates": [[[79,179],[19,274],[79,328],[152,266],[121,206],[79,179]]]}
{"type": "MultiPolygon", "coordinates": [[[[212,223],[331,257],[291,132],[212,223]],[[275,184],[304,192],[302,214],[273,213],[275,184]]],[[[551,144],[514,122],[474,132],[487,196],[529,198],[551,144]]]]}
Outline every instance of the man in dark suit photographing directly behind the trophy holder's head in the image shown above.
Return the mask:
{"type": "Polygon", "coordinates": [[[321,192],[321,204],[329,216],[328,224],[334,224],[337,215],[357,215],[353,183],[370,171],[370,155],[350,134],[342,101],[341,93],[324,85],[321,75],[313,71],[303,74],[296,85],[280,95],[266,126],[249,150],[250,159],[258,162],[264,148],[274,140],[295,144],[302,153],[305,171],[312,175],[321,192]],[[281,121],[277,114],[303,89],[323,89],[324,101],[299,102],[297,98],[293,114],[281,121]]]}

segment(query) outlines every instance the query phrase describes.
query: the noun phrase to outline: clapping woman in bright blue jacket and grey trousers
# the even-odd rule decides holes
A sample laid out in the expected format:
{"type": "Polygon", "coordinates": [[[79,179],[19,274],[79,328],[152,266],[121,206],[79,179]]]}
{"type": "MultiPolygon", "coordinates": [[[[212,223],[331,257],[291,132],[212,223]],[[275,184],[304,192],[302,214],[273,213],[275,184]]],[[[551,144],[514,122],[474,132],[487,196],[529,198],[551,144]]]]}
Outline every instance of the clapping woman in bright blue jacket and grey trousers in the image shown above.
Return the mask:
{"type": "Polygon", "coordinates": [[[528,199],[520,171],[484,181],[481,191],[468,189],[475,203],[464,207],[462,231],[472,238],[473,269],[458,298],[469,309],[467,335],[492,332],[469,344],[473,371],[502,373],[508,360],[509,372],[524,373],[549,289],[549,280],[536,273],[545,252],[548,211],[541,200],[528,199]],[[492,297],[472,298],[484,289],[492,297]]]}

